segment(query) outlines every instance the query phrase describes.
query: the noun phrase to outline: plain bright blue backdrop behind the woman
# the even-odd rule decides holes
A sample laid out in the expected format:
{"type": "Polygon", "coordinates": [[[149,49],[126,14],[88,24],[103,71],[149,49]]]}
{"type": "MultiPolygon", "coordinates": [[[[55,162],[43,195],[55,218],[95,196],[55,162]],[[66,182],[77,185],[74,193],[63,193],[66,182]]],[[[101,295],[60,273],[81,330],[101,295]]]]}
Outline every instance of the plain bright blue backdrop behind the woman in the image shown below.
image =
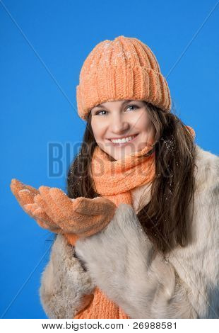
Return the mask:
{"type": "Polygon", "coordinates": [[[217,1],[0,1],[1,297],[3,318],[47,318],[40,275],[54,234],[24,213],[9,184],[66,188],[82,140],[76,108],[83,61],[102,40],[136,37],[155,53],[179,117],[196,143],[218,154],[217,1]],[[59,142],[61,174],[49,174],[59,142]]]}

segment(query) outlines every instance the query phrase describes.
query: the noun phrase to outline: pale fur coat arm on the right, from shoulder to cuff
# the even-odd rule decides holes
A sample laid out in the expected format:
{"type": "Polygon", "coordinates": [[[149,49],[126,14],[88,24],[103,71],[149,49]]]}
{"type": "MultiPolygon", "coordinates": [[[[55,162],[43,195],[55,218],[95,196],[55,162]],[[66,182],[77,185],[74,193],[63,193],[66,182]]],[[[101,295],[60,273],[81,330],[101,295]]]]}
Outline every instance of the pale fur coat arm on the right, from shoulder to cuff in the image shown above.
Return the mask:
{"type": "Polygon", "coordinates": [[[103,292],[131,318],[219,317],[219,158],[196,145],[191,243],[168,261],[153,247],[131,205],[109,225],[76,242],[76,254],[103,292]]]}

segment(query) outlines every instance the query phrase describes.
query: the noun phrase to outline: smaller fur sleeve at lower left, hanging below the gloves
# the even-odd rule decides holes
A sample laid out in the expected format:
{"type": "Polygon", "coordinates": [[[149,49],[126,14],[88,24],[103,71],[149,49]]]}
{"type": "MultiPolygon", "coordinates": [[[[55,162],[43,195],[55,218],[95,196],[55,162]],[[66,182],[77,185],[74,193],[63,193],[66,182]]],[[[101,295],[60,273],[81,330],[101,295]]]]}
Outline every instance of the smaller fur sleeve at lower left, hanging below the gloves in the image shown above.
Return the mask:
{"type": "Polygon", "coordinates": [[[93,299],[95,285],[74,251],[64,235],[57,235],[39,290],[49,318],[73,318],[93,299]]]}

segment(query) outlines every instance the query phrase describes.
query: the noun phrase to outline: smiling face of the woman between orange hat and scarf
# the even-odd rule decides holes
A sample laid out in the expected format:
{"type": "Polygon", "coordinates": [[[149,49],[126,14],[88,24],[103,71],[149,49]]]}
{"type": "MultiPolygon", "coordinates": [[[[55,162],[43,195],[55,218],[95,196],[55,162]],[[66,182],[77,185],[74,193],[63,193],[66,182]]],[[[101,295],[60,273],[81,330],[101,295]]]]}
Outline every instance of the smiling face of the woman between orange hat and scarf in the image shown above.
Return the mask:
{"type": "Polygon", "coordinates": [[[143,101],[107,101],[91,111],[91,127],[97,145],[114,160],[152,144],[155,128],[143,101]],[[113,142],[117,139],[131,139],[113,142]]]}

